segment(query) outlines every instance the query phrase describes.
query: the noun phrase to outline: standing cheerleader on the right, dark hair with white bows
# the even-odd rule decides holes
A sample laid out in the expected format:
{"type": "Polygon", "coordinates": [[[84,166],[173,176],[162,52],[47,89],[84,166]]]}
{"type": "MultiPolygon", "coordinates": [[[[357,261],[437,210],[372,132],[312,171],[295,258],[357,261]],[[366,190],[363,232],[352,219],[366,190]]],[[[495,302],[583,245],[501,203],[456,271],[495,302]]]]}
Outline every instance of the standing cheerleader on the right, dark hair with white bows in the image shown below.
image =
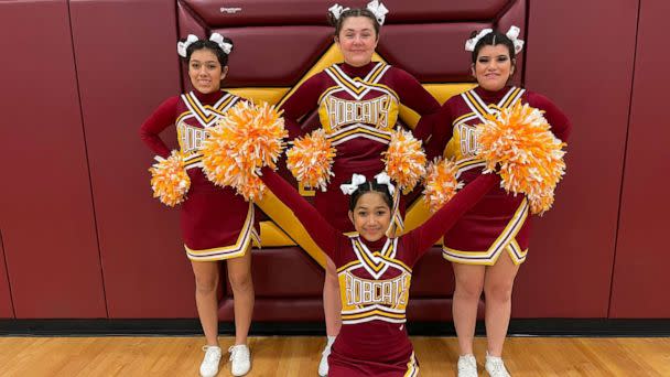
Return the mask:
{"type": "MultiPolygon", "coordinates": [[[[485,165],[476,157],[479,143],[475,126],[487,116],[499,116],[521,101],[544,112],[556,138],[565,141],[570,133],[570,121],[547,97],[508,86],[516,69],[515,55],[523,46],[518,34],[516,26],[507,34],[485,29],[466,42],[466,51],[472,52],[472,74],[478,86],[442,106],[439,127],[426,147],[429,154],[444,151],[445,157],[455,159],[464,183],[480,176],[485,165]]],[[[501,359],[502,345],[511,312],[512,286],[519,265],[526,260],[529,233],[529,201],[496,187],[444,235],[443,257],[452,262],[456,280],[453,317],[461,348],[457,363],[461,377],[477,376],[473,337],[483,291],[488,342],[485,368],[490,376],[509,376],[501,359]]]]}

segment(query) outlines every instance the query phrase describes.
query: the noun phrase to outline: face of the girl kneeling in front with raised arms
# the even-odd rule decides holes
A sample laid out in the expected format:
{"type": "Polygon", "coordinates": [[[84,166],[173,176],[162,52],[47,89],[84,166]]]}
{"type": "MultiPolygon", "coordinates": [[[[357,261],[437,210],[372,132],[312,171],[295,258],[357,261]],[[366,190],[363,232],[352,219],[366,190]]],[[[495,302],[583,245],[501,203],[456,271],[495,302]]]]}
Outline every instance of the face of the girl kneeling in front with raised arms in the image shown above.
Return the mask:
{"type": "Polygon", "coordinates": [[[386,235],[391,224],[391,208],[382,193],[366,192],[358,197],[354,211],[349,211],[349,219],[364,239],[376,241],[386,235]]]}

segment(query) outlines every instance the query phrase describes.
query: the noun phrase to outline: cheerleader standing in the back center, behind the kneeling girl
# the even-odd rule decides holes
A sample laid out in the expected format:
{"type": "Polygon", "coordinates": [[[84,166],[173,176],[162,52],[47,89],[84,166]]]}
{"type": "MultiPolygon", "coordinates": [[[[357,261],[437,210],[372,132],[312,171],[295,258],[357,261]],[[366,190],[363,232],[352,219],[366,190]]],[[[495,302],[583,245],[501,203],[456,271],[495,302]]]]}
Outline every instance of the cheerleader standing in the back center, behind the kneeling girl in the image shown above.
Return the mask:
{"type": "MultiPolygon", "coordinates": [[[[421,139],[430,134],[440,110],[439,103],[410,74],[372,62],[387,12],[378,1],[371,1],[366,9],[333,6],[328,19],[344,62],[309,78],[281,105],[291,137],[302,134],[298,120],[317,109],[320,127],[337,149],[333,182],[327,191],[316,193],[314,206],[342,233],[354,228],[347,216],[347,198],[337,187],[354,172],[371,180],[383,170],[381,153],[397,127],[400,104],[422,116],[414,129],[421,139]]],[[[395,212],[393,218],[393,227],[401,227],[400,214],[395,212]]],[[[342,325],[335,265],[326,259],[323,300],[328,340],[318,366],[321,376],[328,373],[327,356],[342,325]]]]}

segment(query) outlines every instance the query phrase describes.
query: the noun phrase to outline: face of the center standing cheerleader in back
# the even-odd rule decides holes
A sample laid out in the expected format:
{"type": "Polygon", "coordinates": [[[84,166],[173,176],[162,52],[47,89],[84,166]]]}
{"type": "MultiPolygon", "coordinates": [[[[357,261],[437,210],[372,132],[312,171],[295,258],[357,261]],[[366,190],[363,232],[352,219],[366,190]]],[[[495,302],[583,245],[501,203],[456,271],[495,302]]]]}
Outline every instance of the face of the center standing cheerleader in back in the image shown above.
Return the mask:
{"type": "Polygon", "coordinates": [[[344,55],[344,61],[355,67],[372,61],[378,41],[374,21],[367,17],[346,18],[335,36],[335,43],[344,55]]]}

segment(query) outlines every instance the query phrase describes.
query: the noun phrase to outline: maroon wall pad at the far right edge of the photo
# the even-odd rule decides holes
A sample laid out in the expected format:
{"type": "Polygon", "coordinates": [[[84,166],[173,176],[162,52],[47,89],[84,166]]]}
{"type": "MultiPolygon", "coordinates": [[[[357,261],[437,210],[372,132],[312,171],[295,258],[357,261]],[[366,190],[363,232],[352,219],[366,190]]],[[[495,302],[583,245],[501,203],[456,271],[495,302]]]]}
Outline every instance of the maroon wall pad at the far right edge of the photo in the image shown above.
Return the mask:
{"type": "Polygon", "coordinates": [[[670,317],[667,0],[640,6],[612,317],[670,317]]]}

